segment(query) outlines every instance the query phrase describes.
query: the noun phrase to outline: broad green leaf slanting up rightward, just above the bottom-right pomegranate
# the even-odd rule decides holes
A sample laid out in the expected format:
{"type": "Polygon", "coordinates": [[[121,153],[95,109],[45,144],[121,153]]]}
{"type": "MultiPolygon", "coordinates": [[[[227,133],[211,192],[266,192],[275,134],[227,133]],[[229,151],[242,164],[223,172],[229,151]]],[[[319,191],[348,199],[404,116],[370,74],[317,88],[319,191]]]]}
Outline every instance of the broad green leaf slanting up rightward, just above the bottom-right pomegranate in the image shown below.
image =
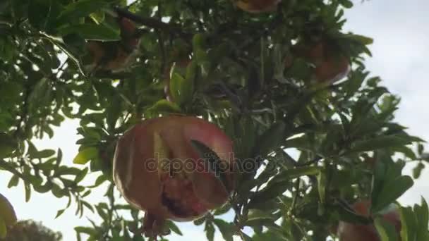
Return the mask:
{"type": "Polygon", "coordinates": [[[389,180],[383,185],[380,193],[373,193],[375,199],[373,199],[373,206],[371,206],[372,211],[376,213],[384,209],[387,205],[401,197],[406,190],[409,190],[413,186],[413,183],[413,179],[408,175],[389,180]]]}

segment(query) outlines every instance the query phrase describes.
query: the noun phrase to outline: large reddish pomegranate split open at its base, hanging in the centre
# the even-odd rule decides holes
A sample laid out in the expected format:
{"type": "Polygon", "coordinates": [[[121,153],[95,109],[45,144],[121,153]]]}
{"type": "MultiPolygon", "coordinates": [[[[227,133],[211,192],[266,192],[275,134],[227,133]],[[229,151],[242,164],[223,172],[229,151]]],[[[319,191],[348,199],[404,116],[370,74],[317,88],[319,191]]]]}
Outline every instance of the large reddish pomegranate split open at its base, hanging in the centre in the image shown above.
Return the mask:
{"type": "Polygon", "coordinates": [[[157,234],[162,223],[191,221],[222,206],[234,188],[232,142],[216,125],[193,116],[143,121],[116,145],[114,182],[123,197],[145,211],[143,232],[157,234]],[[226,186],[200,159],[191,140],[210,147],[222,163],[226,186]]]}

